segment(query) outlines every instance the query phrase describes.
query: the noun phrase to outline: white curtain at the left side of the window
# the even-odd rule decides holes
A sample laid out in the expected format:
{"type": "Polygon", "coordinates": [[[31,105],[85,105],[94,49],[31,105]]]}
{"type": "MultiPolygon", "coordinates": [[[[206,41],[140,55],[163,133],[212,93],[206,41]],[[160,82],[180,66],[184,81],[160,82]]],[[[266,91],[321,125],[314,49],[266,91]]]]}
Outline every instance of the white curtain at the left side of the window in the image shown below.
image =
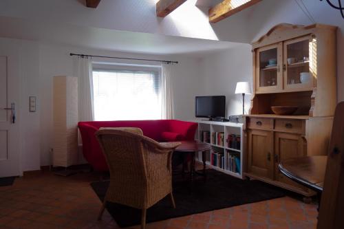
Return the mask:
{"type": "Polygon", "coordinates": [[[78,77],[78,121],[94,120],[91,58],[74,57],[74,76],[78,77]]]}

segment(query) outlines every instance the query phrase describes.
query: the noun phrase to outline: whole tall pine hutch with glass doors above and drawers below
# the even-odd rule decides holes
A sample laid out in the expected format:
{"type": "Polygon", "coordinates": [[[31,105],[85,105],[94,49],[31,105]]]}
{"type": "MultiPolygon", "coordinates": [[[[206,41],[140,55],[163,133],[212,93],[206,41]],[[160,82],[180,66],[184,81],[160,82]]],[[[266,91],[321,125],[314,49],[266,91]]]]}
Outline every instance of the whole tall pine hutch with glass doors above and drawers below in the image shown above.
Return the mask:
{"type": "Polygon", "coordinates": [[[325,155],[336,107],[336,27],[276,25],[252,43],[253,96],[245,116],[244,175],[301,193],[281,160],[325,155]],[[281,116],[271,107],[297,107],[281,116]]]}

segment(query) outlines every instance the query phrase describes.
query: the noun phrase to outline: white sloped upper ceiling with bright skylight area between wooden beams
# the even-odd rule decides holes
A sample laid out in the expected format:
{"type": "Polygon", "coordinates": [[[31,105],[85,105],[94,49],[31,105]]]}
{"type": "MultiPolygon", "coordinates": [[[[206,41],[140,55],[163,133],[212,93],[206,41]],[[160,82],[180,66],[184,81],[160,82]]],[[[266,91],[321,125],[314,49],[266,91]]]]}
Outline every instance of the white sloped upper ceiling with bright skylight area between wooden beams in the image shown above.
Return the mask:
{"type": "Polygon", "coordinates": [[[129,52],[206,52],[251,43],[278,23],[313,23],[297,1],[316,23],[344,30],[340,12],[318,0],[263,0],[218,23],[207,16],[219,0],[188,0],[163,19],[155,17],[158,0],[102,0],[96,9],[81,1],[1,0],[0,36],[129,52]]]}

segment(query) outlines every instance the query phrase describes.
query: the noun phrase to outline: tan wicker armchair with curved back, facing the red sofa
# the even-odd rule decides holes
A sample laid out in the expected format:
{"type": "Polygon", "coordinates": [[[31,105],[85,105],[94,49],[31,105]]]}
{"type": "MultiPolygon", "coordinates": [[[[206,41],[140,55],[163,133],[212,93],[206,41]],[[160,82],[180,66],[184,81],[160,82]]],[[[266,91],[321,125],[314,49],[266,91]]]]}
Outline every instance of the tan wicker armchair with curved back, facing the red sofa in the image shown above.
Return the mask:
{"type": "Polygon", "coordinates": [[[173,208],[171,156],[180,142],[155,142],[138,128],[104,128],[96,132],[110,171],[110,184],[100,209],[107,201],[142,209],[141,228],[146,226],[146,210],[170,195],[173,208]]]}

